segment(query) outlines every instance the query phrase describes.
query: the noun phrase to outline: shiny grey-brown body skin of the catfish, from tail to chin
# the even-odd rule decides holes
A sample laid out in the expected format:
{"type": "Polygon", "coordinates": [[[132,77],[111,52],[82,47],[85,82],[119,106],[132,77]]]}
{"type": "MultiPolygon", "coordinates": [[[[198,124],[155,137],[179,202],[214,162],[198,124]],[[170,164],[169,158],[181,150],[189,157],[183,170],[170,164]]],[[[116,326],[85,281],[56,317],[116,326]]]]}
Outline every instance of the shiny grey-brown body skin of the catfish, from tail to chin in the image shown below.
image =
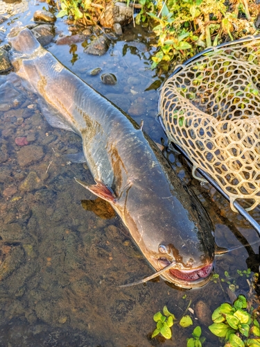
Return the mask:
{"type": "MultiPolygon", "coordinates": [[[[206,273],[201,270],[205,266],[211,273],[211,221],[154,142],[130,116],[43,49],[27,28],[11,32],[9,41],[15,51],[15,72],[40,97],[49,124],[82,137],[87,165],[97,183],[85,187],[111,203],[153,268],[159,271],[163,263],[175,261],[183,273],[206,273]],[[160,245],[166,253],[159,251],[160,245]]],[[[163,275],[189,289],[210,278],[185,276],[176,278],[170,271],[163,275]]]]}

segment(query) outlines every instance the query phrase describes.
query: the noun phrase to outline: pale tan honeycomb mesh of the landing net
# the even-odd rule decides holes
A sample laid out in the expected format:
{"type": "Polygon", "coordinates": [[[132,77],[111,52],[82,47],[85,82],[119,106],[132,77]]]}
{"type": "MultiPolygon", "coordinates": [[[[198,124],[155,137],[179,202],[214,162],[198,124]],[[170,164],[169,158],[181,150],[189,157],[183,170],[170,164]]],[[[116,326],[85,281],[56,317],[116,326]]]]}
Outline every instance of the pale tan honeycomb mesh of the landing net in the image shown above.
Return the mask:
{"type": "Polygon", "coordinates": [[[168,138],[229,195],[260,203],[260,37],[214,49],[168,78],[159,100],[168,138]]]}

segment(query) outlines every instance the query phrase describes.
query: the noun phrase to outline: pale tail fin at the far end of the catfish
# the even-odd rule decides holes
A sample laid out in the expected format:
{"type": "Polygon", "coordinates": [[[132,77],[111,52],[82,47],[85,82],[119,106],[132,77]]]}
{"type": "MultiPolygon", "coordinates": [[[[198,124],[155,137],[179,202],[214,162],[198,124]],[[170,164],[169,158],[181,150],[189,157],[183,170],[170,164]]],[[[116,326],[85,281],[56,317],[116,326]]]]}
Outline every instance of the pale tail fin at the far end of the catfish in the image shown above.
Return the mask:
{"type": "Polygon", "coordinates": [[[40,43],[28,28],[13,28],[8,36],[12,48],[19,53],[31,54],[40,47],[40,43]]]}

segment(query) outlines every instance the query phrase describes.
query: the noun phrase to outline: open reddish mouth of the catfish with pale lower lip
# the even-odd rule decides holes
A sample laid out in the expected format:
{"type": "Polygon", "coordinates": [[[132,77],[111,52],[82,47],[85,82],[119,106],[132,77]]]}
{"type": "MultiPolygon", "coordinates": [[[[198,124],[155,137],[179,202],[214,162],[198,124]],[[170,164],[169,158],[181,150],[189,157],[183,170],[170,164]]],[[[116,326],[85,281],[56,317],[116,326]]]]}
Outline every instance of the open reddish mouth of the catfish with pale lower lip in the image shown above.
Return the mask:
{"type": "MultiPolygon", "coordinates": [[[[165,267],[168,264],[171,264],[166,259],[160,258],[158,260],[160,267],[165,267]]],[[[204,266],[200,266],[197,269],[177,269],[173,268],[169,269],[167,273],[163,274],[166,280],[173,282],[173,284],[183,287],[183,288],[191,288],[191,287],[202,287],[207,282],[209,282],[211,278],[211,273],[213,270],[213,263],[206,264],[204,266]]]]}

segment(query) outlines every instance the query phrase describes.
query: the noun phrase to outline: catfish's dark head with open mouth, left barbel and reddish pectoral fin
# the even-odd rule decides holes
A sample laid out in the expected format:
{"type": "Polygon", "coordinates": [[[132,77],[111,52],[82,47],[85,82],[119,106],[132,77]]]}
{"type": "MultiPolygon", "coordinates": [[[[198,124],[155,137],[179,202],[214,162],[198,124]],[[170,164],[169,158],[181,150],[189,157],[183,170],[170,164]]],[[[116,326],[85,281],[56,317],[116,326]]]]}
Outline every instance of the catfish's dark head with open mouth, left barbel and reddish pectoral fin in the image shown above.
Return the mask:
{"type": "Polygon", "coordinates": [[[116,197],[101,182],[92,186],[77,182],[110,201],[157,271],[146,280],[161,274],[186,289],[209,282],[214,267],[213,226],[196,196],[183,187],[180,195],[170,185],[134,182],[116,197]]]}

